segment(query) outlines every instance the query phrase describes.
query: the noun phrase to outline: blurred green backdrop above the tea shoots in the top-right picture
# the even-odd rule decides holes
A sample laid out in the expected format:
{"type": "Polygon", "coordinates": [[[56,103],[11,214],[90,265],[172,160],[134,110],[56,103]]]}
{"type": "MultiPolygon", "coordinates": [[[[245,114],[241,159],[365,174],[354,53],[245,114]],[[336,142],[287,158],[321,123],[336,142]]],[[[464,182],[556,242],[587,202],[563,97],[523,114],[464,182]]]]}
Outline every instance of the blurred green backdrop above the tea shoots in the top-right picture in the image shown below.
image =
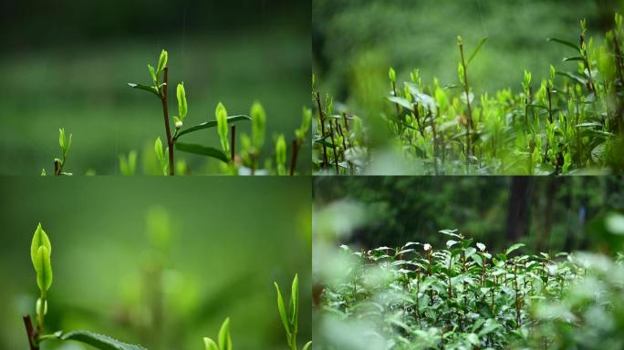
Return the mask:
{"type": "Polygon", "coordinates": [[[539,81],[551,63],[557,69],[574,67],[561,62],[572,53],[546,38],[577,42],[584,17],[589,35],[598,35],[612,26],[614,11],[623,5],[621,0],[313,0],[313,72],[320,91],[348,102],[356,113],[376,114],[392,107],[383,102],[390,66],[398,82],[419,68],[427,85],[434,77],[441,86],[457,84],[456,37],[463,36],[470,53],[488,36],[469,71],[475,95],[518,91],[524,69],[539,81]]]}

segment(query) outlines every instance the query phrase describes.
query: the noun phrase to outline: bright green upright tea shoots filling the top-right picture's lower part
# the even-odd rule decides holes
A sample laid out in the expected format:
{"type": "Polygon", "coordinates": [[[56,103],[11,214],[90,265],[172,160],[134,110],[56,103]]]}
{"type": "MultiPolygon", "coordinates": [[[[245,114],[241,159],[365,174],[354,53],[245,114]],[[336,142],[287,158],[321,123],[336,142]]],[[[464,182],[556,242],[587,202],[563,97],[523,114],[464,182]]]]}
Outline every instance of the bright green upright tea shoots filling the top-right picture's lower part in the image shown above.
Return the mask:
{"type": "MultiPolygon", "coordinates": [[[[458,36],[458,84],[442,86],[436,78],[427,85],[416,69],[400,86],[390,67],[390,94],[385,98],[393,105],[392,113],[382,118],[400,159],[412,172],[435,175],[624,171],[619,152],[624,129],[622,16],[615,16],[615,27],[600,44],[586,36],[587,29],[581,21],[577,43],[548,39],[566,46],[569,56],[563,61],[576,67],[557,71],[550,66],[549,77],[537,84],[525,71],[517,94],[507,88],[474,95],[470,65],[487,38],[467,55],[458,36]]],[[[323,101],[314,80],[315,169],[328,174],[367,170],[375,155],[367,134],[374,130],[337,111],[332,98],[323,101]],[[349,119],[355,125],[349,126],[349,119]]]]}

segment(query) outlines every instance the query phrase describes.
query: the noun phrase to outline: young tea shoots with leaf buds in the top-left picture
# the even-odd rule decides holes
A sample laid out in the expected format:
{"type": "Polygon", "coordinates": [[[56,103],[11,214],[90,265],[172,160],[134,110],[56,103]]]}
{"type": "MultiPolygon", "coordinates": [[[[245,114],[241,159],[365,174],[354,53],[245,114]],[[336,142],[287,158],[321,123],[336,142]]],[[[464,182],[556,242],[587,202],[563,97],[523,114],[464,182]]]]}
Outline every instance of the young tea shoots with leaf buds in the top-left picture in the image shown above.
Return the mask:
{"type": "MultiPolygon", "coordinates": [[[[196,155],[205,156],[214,160],[220,160],[222,166],[221,172],[224,174],[278,174],[286,175],[286,139],[284,135],[276,136],[276,168],[271,165],[271,160],[267,159],[262,169],[258,166],[260,153],[262,152],[264,139],[265,139],[265,109],[259,102],[255,102],[252,106],[251,115],[257,120],[254,120],[246,115],[233,115],[229,116],[224,104],[219,102],[214,112],[214,120],[204,121],[189,128],[183,128],[185,118],[188,115],[189,107],[186,99],[186,88],[183,83],[177,85],[176,99],[178,106],[178,114],[169,117],[169,54],[166,50],[161,51],[156,67],[148,64],[148,70],[151,77],[150,84],[137,84],[129,83],[130,88],[135,88],[149,92],[159,98],[162,106],[162,114],[165,125],[165,139],[164,144],[161,137],[157,137],[154,142],[154,151],[156,159],[158,160],[158,168],[163,175],[173,175],[177,172],[189,173],[189,169],[183,160],[175,161],[175,150],[182,152],[192,153],[196,155]],[[249,136],[242,134],[240,139],[242,141],[242,148],[238,149],[240,156],[236,153],[236,132],[235,122],[252,120],[252,139],[249,136]],[[220,139],[221,149],[216,149],[210,146],[204,146],[195,143],[182,142],[180,139],[183,136],[190,135],[203,129],[216,128],[220,139]],[[173,131],[172,131],[173,129],[173,131]],[[256,173],[257,170],[257,173],[256,173]]],[[[290,175],[296,173],[296,158],[301,145],[305,142],[307,131],[311,123],[311,110],[304,108],[301,127],[296,129],[293,136],[290,164],[290,175]]],[[[63,165],[67,157],[69,146],[71,145],[71,135],[68,142],[65,139],[64,129],[60,129],[61,149],[63,150],[62,160],[55,160],[55,174],[68,174],[62,171],[63,165]],[[67,144],[66,144],[67,143],[67,144]]],[[[130,150],[128,158],[125,155],[120,155],[120,172],[123,175],[132,175],[136,172],[136,159],[137,153],[135,150],[130,150]]],[[[46,175],[46,170],[42,170],[42,175],[46,175]]],[[[70,175],[70,174],[68,174],[70,175]]]]}

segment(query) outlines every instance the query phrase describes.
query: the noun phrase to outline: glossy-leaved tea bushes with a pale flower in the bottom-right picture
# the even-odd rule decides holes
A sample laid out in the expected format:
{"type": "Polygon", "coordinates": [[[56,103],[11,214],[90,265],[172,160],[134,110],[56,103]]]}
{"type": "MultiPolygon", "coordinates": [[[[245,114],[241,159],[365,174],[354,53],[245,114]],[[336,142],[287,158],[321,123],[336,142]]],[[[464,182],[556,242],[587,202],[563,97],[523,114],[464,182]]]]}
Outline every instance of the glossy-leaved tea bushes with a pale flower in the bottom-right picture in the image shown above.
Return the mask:
{"type": "Polygon", "coordinates": [[[444,249],[408,242],[352,252],[343,245],[350,263],[340,279],[324,284],[319,313],[369,324],[361,336],[384,339],[387,349],[578,348],[552,330],[591,334],[591,326],[575,322],[580,309],[586,317],[619,317],[609,302],[620,298],[622,280],[604,273],[607,266],[621,276],[620,262],[592,258],[603,262],[597,274],[588,267],[594,255],[519,254],[522,243],[495,253],[456,231],[442,234],[449,236],[444,249]],[[596,281],[601,287],[591,289],[596,281]],[[586,289],[578,292],[579,285],[586,289]]]}

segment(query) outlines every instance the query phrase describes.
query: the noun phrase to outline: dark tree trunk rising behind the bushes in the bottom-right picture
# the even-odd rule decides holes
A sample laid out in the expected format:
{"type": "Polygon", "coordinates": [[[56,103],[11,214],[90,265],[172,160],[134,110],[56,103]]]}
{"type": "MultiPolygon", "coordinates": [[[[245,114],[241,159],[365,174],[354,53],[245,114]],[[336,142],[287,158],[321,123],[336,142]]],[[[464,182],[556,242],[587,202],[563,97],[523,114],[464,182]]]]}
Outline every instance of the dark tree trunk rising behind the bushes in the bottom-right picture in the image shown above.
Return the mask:
{"type": "Polygon", "coordinates": [[[507,207],[507,240],[516,242],[525,236],[529,219],[529,199],[533,189],[533,179],[527,176],[512,178],[507,207]]]}

